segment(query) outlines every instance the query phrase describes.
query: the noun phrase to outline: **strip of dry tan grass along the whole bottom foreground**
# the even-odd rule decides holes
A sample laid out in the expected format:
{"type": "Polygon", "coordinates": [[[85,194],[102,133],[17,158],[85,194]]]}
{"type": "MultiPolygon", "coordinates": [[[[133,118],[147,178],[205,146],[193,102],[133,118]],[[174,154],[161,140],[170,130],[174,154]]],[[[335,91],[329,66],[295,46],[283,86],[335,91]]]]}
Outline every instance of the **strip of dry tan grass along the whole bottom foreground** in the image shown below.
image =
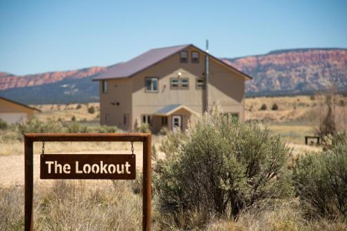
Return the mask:
{"type": "MultiPolygon", "coordinates": [[[[34,230],[141,230],[142,198],[131,181],[57,180],[51,186],[35,185],[34,230]]],[[[153,198],[155,204],[155,198],[153,198]]],[[[152,230],[183,230],[172,217],[152,208],[152,230]]],[[[179,214],[178,214],[179,215],[179,214]]],[[[277,201],[245,210],[235,220],[205,217],[191,212],[189,230],[346,230],[343,221],[305,219],[297,201],[277,201]]],[[[24,230],[24,190],[0,187],[0,230],[24,230]]],[[[180,217],[178,216],[178,220],[180,217]]],[[[183,220],[183,219],[182,219],[183,220]]],[[[187,225],[187,223],[185,224],[187,225]]]]}

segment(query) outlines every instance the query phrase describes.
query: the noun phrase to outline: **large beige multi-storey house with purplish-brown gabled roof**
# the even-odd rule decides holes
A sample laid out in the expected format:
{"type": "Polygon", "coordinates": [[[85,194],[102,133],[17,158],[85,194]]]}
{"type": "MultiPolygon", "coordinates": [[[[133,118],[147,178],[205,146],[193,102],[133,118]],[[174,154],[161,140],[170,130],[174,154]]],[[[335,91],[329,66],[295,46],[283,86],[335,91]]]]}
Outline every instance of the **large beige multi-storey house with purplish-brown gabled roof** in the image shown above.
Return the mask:
{"type": "Polygon", "coordinates": [[[250,79],[186,44],[151,49],[93,80],[100,82],[101,124],[135,130],[140,123],[149,123],[152,132],[158,132],[162,127],[184,130],[189,119],[210,111],[217,102],[223,112],[243,121],[244,83],[250,79]]]}

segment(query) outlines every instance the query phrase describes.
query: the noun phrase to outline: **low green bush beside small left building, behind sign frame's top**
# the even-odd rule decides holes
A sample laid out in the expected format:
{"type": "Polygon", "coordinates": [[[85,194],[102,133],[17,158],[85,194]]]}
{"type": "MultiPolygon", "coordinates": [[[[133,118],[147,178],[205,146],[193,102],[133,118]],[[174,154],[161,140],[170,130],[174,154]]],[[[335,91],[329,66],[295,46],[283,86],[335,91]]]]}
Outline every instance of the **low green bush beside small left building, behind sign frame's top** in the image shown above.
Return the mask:
{"type": "Polygon", "coordinates": [[[21,137],[25,133],[59,133],[63,131],[60,122],[51,119],[46,122],[41,122],[36,117],[20,122],[17,128],[21,137]]]}

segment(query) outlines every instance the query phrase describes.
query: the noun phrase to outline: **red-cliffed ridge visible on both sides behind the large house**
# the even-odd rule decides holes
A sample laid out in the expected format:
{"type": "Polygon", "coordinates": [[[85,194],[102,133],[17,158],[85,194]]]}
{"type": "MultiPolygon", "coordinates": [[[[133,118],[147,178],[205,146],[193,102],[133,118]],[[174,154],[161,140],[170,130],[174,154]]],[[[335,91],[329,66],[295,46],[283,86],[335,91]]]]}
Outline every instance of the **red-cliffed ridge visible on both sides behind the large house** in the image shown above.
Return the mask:
{"type": "MultiPolygon", "coordinates": [[[[330,85],[347,92],[347,49],[288,49],[223,60],[253,76],[246,83],[247,96],[312,94],[330,85]]],[[[99,84],[92,78],[108,68],[26,76],[0,72],[0,96],[22,103],[99,101],[99,84]]]]}

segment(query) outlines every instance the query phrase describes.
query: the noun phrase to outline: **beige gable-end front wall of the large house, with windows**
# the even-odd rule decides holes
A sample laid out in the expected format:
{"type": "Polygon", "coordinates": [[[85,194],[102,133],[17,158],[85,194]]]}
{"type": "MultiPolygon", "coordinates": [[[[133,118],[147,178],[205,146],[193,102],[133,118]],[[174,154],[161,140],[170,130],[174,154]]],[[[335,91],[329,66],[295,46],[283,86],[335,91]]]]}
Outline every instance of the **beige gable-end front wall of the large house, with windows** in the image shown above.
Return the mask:
{"type": "MultiPolygon", "coordinates": [[[[157,65],[142,71],[133,77],[133,121],[141,122],[142,114],[153,114],[166,105],[180,103],[186,105],[194,112],[203,112],[203,91],[196,89],[196,79],[205,78],[205,55],[200,53],[200,62],[180,63],[179,53],[172,55],[157,65]],[[170,80],[178,77],[189,78],[189,89],[170,89],[170,80]],[[145,92],[144,81],[146,77],[158,77],[158,93],[145,92]]],[[[210,60],[209,108],[217,101],[224,112],[238,113],[240,121],[244,120],[244,76],[234,73],[227,67],[210,60]]],[[[184,120],[184,119],[183,119],[184,120]]],[[[153,121],[154,130],[161,121],[153,121]]],[[[171,128],[171,117],[168,118],[168,127],[171,128]]],[[[185,124],[185,123],[184,123],[185,124]]]]}

